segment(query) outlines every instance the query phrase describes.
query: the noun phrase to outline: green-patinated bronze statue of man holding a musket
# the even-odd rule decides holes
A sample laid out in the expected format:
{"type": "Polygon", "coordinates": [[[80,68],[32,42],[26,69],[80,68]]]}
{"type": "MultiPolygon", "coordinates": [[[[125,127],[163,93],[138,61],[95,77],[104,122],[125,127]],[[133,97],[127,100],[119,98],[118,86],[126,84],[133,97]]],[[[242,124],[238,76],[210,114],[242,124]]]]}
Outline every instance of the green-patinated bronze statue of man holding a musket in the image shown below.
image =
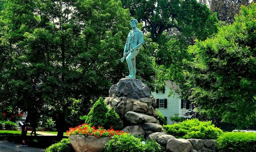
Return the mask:
{"type": "Polygon", "coordinates": [[[142,31],[137,28],[138,21],[131,19],[130,24],[132,30],[128,34],[124,49],[124,58],[126,57],[128,64],[129,76],[125,76],[125,78],[135,79],[136,56],[140,52],[140,47],[144,44],[144,38],[142,31]]]}

